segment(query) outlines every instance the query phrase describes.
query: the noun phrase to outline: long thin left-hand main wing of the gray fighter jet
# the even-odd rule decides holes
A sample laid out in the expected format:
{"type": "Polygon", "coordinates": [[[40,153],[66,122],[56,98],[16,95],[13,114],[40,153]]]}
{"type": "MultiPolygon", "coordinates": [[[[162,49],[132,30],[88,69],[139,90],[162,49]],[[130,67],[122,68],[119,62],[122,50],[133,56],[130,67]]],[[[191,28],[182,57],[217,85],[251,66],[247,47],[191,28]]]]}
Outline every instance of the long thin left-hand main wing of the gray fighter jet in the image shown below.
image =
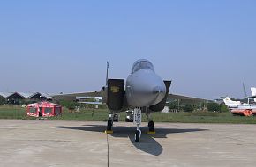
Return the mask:
{"type": "Polygon", "coordinates": [[[51,98],[57,100],[76,100],[77,97],[102,97],[102,94],[101,91],[91,91],[68,94],[56,94],[51,96],[51,98]]]}

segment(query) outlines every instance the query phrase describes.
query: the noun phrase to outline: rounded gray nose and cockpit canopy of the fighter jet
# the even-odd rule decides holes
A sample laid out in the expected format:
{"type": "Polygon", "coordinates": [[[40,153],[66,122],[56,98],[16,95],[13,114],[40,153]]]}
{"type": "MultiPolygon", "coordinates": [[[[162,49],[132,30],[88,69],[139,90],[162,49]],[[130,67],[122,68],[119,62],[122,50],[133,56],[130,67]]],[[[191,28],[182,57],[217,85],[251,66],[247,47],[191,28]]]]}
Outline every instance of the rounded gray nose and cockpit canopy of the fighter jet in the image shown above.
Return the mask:
{"type": "Polygon", "coordinates": [[[134,62],[132,73],[126,80],[126,98],[129,106],[143,107],[156,105],[166,94],[166,86],[154,72],[151,62],[142,59],[134,62]]]}

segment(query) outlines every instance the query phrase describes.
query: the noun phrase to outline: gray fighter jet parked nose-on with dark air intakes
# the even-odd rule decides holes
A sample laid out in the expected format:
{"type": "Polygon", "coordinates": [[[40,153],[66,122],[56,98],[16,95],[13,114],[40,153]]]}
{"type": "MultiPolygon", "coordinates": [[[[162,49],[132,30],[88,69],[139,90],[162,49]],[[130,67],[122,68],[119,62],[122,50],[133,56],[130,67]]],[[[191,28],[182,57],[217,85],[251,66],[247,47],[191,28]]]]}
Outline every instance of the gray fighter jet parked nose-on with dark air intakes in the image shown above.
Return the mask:
{"type": "Polygon", "coordinates": [[[140,59],[133,63],[131,74],[124,79],[109,79],[107,65],[106,85],[102,91],[72,93],[56,95],[56,99],[73,99],[74,97],[102,97],[102,103],[108,105],[111,114],[108,120],[106,133],[113,133],[113,115],[133,110],[133,122],[136,124],[135,142],[139,142],[141,131],[141,113],[146,113],[148,120],[148,133],[154,134],[154,121],[150,113],[161,112],[166,104],[167,98],[192,99],[194,101],[205,101],[200,98],[190,98],[169,94],[170,80],[163,80],[154,71],[152,62],[140,59]]]}

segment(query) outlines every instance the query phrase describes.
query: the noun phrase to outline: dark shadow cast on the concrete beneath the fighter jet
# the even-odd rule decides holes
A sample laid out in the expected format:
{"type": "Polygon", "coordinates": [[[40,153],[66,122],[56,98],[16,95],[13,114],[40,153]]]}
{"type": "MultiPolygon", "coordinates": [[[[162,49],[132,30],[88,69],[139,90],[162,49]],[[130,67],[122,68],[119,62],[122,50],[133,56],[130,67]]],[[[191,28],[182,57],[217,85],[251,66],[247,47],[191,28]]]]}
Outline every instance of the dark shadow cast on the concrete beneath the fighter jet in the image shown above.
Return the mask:
{"type": "MultiPolygon", "coordinates": [[[[83,130],[90,132],[104,132],[106,127],[101,125],[84,125],[83,127],[64,127],[59,126],[56,128],[72,129],[72,130],[83,130]]],[[[162,154],[163,148],[162,145],[155,141],[154,138],[167,138],[167,134],[176,134],[176,133],[187,133],[187,132],[198,132],[206,131],[207,129],[199,128],[190,128],[190,129],[178,129],[171,127],[155,127],[156,134],[147,134],[148,127],[140,127],[141,129],[141,138],[140,142],[134,141],[134,132],[136,127],[122,127],[117,126],[113,127],[114,134],[109,134],[113,137],[124,137],[129,138],[137,149],[146,152],[147,154],[159,156],[162,154]]]]}

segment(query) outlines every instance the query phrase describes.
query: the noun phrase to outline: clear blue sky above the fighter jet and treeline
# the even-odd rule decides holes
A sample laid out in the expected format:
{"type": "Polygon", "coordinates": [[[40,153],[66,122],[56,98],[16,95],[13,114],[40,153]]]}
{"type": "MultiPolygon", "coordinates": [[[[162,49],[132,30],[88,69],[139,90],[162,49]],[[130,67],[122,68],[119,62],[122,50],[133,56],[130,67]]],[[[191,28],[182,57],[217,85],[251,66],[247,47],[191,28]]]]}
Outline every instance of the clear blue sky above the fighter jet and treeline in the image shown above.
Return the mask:
{"type": "Polygon", "coordinates": [[[256,86],[256,1],[1,1],[0,91],[97,91],[147,58],[171,92],[256,86]]]}

